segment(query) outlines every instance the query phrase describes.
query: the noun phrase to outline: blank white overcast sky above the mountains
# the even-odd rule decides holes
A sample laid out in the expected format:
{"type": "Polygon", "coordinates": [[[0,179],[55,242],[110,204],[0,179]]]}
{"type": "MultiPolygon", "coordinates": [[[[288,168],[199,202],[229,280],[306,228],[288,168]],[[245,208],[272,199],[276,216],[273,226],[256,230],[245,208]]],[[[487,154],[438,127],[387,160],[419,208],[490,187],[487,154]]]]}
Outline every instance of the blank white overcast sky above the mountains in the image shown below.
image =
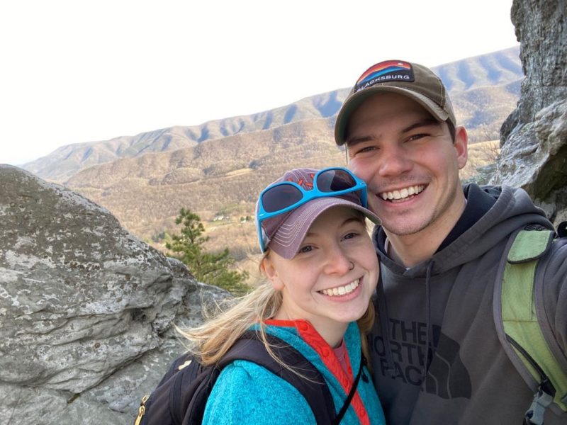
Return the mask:
{"type": "Polygon", "coordinates": [[[13,0],[0,4],[0,163],[248,115],[517,45],[512,0],[13,0]]]}

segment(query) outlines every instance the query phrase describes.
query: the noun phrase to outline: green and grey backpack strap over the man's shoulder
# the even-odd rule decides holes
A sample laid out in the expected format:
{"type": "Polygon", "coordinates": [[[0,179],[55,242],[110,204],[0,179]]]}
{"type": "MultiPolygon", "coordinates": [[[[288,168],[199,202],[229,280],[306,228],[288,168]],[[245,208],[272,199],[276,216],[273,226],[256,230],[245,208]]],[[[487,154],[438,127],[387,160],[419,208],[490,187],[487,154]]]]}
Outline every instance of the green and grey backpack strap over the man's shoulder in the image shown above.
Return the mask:
{"type": "MultiPolygon", "coordinates": [[[[564,236],[567,223],[558,227],[564,236]]],[[[498,339],[518,373],[534,391],[524,424],[544,423],[544,412],[567,412],[567,357],[556,341],[543,305],[550,251],[567,244],[553,230],[528,226],[510,237],[494,285],[498,339]]]]}

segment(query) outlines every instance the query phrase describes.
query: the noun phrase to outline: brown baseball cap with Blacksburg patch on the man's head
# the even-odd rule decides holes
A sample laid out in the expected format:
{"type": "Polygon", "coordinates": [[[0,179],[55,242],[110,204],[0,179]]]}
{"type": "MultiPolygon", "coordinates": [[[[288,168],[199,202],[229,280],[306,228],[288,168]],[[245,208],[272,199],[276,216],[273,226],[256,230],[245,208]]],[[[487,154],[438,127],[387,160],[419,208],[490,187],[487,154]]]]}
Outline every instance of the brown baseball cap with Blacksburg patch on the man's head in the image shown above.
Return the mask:
{"type": "Polygon", "coordinates": [[[403,60],[386,60],[372,65],[357,79],[342,104],[335,124],[335,142],[344,145],[350,115],[367,98],[390,91],[412,98],[439,121],[450,120],[456,126],[449,93],[431,69],[403,60]]]}

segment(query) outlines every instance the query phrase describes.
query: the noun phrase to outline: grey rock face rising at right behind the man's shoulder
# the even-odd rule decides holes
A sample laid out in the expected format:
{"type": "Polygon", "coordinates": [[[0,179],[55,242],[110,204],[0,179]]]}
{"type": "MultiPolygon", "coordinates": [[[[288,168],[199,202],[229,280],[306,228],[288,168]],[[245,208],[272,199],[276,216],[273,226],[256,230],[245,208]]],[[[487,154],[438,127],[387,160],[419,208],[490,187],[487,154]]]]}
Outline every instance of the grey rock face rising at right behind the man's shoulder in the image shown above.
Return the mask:
{"type": "Polygon", "coordinates": [[[492,183],[526,189],[557,225],[567,220],[567,1],[515,0],[512,23],[526,78],[492,183]]]}

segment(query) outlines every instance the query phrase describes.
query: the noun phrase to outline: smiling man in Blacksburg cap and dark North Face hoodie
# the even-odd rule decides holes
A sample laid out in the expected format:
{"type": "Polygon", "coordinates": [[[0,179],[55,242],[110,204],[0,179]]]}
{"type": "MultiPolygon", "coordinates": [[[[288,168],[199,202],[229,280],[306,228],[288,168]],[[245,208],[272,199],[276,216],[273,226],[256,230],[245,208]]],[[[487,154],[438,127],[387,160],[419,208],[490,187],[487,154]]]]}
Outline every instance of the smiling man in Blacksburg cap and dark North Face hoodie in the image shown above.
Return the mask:
{"type": "MultiPolygon", "coordinates": [[[[419,64],[364,72],[335,139],[382,220],[373,234],[382,284],[371,356],[386,422],[521,424],[533,391],[498,339],[493,289],[509,237],[551,222],[521,189],[461,186],[466,130],[442,81],[419,64]]],[[[567,244],[554,244],[551,256],[545,311],[566,353],[567,244]]],[[[545,412],[546,425],[566,420],[545,412]]]]}

